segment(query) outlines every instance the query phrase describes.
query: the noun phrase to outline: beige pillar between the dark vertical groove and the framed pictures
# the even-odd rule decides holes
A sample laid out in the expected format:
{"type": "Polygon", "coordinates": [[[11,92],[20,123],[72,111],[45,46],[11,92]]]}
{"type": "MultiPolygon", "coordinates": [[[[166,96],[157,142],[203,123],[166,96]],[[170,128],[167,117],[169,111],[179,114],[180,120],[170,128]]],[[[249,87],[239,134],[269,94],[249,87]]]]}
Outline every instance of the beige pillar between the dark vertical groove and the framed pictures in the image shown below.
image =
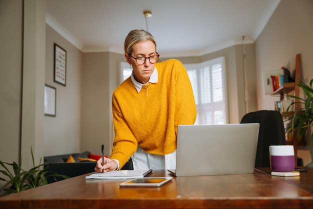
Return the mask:
{"type": "Polygon", "coordinates": [[[20,154],[22,167],[33,167],[43,156],[45,1],[24,1],[20,154]]]}

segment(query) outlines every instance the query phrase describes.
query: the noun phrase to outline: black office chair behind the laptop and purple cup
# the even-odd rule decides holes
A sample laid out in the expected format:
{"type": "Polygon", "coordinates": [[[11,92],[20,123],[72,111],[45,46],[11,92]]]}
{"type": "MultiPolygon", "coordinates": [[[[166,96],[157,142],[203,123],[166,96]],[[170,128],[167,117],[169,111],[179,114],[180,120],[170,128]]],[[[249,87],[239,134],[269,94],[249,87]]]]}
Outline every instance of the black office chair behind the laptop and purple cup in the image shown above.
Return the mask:
{"type": "Polygon", "coordinates": [[[240,123],[259,123],[255,167],[269,167],[269,146],[286,144],[283,119],[275,110],[246,113],[240,123]]]}

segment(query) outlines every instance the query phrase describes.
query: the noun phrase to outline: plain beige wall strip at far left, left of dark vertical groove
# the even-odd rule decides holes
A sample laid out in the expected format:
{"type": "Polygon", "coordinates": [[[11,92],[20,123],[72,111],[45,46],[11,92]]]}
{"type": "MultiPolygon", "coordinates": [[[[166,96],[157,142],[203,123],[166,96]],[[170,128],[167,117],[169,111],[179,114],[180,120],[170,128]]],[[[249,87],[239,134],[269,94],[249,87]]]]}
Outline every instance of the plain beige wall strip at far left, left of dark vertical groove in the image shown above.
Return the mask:
{"type": "Polygon", "coordinates": [[[0,1],[0,160],[19,162],[22,1],[0,1]]]}

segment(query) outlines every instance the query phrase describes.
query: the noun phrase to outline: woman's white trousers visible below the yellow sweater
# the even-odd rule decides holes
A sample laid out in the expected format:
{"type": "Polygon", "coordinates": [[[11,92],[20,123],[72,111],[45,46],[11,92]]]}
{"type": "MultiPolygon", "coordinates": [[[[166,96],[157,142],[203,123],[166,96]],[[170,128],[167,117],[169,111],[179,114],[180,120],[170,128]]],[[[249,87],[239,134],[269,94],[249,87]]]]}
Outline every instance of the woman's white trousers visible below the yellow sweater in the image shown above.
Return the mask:
{"type": "Polygon", "coordinates": [[[137,150],[131,155],[131,159],[134,170],[176,168],[176,150],[166,155],[150,154],[137,146],[137,150]]]}

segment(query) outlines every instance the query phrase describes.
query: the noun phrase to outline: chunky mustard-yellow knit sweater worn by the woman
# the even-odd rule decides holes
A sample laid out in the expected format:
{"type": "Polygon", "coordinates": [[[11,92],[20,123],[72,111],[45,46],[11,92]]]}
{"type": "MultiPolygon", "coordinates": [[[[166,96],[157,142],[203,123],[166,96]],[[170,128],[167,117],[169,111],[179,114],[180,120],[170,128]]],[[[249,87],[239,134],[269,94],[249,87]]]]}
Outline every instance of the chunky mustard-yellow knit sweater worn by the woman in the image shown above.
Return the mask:
{"type": "Polygon", "coordinates": [[[195,121],[194,96],[182,63],[170,59],[155,67],[157,83],[147,83],[137,92],[128,77],[112,94],[115,137],[110,158],[119,161],[119,168],[137,146],[153,154],[173,152],[177,125],[195,121]]]}

